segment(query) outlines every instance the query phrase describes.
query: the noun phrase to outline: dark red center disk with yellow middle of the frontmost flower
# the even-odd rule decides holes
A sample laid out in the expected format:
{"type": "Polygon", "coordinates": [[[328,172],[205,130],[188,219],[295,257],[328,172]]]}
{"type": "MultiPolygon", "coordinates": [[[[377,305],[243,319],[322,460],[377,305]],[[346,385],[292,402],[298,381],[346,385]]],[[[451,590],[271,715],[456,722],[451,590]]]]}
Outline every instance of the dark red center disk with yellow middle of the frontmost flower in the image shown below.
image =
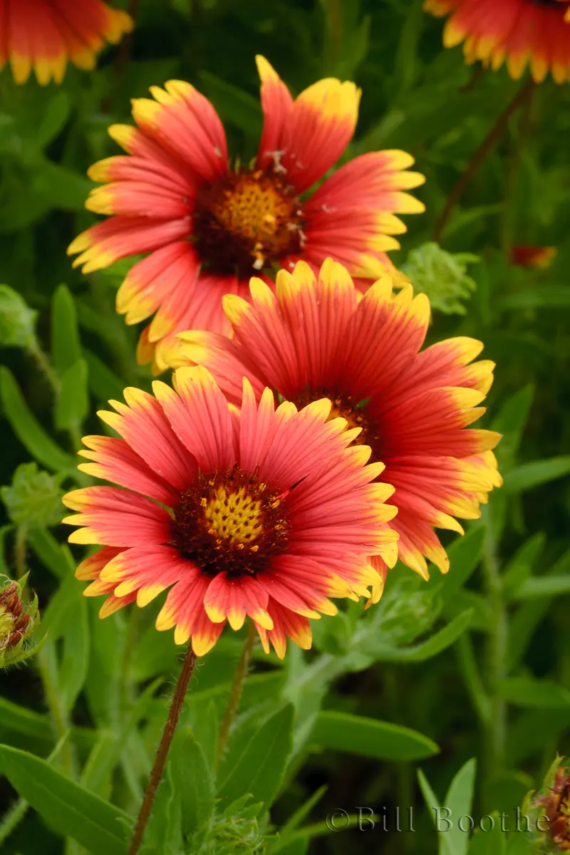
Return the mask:
{"type": "Polygon", "coordinates": [[[285,551],[290,531],[279,491],[234,466],[200,475],[180,494],[172,543],[206,575],[237,578],[265,569],[285,551]]]}

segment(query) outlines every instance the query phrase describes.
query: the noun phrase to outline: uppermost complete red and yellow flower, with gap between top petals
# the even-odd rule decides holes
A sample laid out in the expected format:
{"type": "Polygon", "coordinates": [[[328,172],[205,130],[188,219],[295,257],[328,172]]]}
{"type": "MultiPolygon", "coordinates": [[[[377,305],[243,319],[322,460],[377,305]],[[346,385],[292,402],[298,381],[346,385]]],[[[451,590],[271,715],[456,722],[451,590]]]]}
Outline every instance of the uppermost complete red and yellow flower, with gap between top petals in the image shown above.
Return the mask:
{"type": "Polygon", "coordinates": [[[226,293],[247,296],[250,276],[299,258],[315,270],[327,256],[343,262],[362,288],[393,266],[386,251],[406,227],[397,214],[424,205],[404,192],[423,183],[403,151],[375,151],[346,163],[307,192],[342,155],[354,133],[360,90],[326,79],[294,100],[261,56],[265,116],[256,161],[231,165],[220,118],[193,86],[170,80],[137,98],[137,127],[109,133],[127,156],[91,167],[87,208],[112,215],[79,235],[68,252],[84,273],[149,253],[126,276],[117,311],[126,323],[155,316],[138,349],[164,370],[162,342],[185,329],[226,333],[226,293]]]}

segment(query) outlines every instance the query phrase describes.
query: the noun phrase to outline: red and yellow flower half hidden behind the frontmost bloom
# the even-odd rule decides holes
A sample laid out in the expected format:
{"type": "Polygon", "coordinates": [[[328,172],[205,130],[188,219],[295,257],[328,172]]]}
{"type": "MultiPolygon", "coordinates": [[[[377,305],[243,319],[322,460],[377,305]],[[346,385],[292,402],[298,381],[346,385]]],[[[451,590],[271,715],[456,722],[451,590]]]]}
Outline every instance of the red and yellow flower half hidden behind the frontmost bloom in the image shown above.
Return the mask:
{"type": "MultiPolygon", "coordinates": [[[[203,364],[233,401],[244,375],[257,398],[264,386],[297,406],[331,398],[333,412],[361,428],[356,443],[371,446],[396,488],[399,557],[424,577],[426,557],[446,572],[449,558],[433,528],[462,534],[455,517],[479,517],[479,503],[501,484],[491,451],[499,434],[467,427],[485,412],[479,404],[492,383],[494,364],[473,363],[483,345],[456,338],[420,351],[426,295],[414,297],[411,286],[394,294],[386,275],[362,296],[331,259],[318,279],[299,262],[292,273],[279,271],[274,293],[259,279],[250,291],[251,304],[224,298],[232,338],[181,333],[171,363],[203,364]]],[[[373,563],[384,576],[382,559],[373,563]]],[[[380,593],[377,587],[374,598],[380,593]]]]}

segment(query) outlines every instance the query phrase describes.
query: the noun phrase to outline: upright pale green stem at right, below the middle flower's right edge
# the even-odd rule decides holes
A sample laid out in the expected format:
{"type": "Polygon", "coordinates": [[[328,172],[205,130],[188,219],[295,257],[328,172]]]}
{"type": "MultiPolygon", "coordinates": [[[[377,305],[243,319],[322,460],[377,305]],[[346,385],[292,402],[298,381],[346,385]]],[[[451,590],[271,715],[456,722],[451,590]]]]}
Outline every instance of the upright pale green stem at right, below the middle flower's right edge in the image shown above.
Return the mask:
{"type": "Polygon", "coordinates": [[[507,736],[507,704],[502,699],[502,682],[507,676],[508,616],[502,598],[502,579],[495,541],[489,532],[483,555],[485,587],[491,608],[491,628],[487,646],[487,679],[491,699],[490,716],[485,722],[487,775],[502,769],[507,736]]]}

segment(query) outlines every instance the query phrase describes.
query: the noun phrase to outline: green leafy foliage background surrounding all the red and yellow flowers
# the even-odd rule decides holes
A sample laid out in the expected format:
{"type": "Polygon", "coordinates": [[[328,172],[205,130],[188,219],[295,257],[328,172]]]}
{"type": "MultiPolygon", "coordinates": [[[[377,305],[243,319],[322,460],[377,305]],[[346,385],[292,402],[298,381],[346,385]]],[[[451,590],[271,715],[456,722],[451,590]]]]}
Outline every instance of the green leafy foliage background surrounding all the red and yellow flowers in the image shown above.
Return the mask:
{"type": "MultiPolygon", "coordinates": [[[[153,628],[157,606],[97,619],[73,579],[81,551],[55,525],[63,490],[84,482],[73,452],[100,431],[97,408],[150,384],[133,356],[137,331],[114,310],[128,265],[83,277],[66,257],[95,220],[83,207],[86,168],[116,153],[107,126],[129,121],[129,98],[149,85],[190,80],[245,159],[261,129],[256,53],[296,92],[323,76],[356,80],[361,114],[345,158],[402,148],[426,174],[415,192],[426,214],[404,218],[393,254],[402,266],[432,240],[451,186],[520,86],[464,66],[441,31],[420,0],[141,0],[120,74],[116,49],[57,87],[0,74],[0,281],[37,313],[0,292],[3,573],[31,569],[50,629],[31,664],[2,675],[6,855],[126,852],[179,669],[171,634],[153,628]]],[[[192,679],[144,852],[530,851],[526,835],[435,834],[426,805],[512,817],[555,752],[570,752],[569,116],[570,87],[538,86],[442,238],[479,257],[466,257],[476,289],[469,298],[463,281],[464,315],[435,311],[430,339],[475,336],[497,362],[486,424],[504,436],[505,486],[453,542],[446,578],[434,570],[423,583],[398,567],[379,606],[349,604],[315,625],[309,655],[290,646],[279,663],[256,651],[214,780],[215,720],[243,644],[224,634],[192,679]],[[555,245],[558,256],[527,271],[508,263],[513,244],[555,245]],[[244,793],[253,799],[232,805],[244,793]],[[274,801],[273,825],[250,808],[260,801],[274,801]],[[328,813],[363,805],[391,831],[328,831],[328,813]],[[394,830],[397,805],[414,807],[414,834],[394,830]]],[[[428,277],[432,286],[441,280],[428,277]]]]}

